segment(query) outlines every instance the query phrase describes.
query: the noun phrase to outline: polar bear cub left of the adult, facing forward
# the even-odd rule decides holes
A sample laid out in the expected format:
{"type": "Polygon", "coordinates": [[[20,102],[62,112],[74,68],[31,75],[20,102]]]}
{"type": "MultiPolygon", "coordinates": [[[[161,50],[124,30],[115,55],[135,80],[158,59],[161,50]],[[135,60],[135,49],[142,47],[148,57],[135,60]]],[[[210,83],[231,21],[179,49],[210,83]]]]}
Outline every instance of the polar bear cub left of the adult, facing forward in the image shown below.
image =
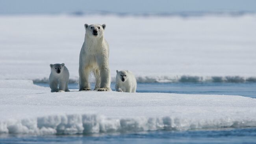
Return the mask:
{"type": "Polygon", "coordinates": [[[51,92],[69,92],[69,70],[65,67],[65,64],[50,64],[50,67],[51,74],[49,81],[51,92]]]}

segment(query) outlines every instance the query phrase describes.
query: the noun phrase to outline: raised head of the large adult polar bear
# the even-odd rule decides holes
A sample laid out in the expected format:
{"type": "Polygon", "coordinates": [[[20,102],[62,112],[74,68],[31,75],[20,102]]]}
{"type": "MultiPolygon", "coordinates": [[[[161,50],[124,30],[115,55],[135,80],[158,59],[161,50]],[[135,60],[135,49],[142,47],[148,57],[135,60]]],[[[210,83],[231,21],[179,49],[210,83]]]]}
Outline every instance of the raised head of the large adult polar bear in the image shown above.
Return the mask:
{"type": "Polygon", "coordinates": [[[87,23],[84,24],[86,34],[91,37],[101,38],[104,35],[104,30],[106,25],[99,25],[99,24],[92,24],[88,25],[87,23]]]}

